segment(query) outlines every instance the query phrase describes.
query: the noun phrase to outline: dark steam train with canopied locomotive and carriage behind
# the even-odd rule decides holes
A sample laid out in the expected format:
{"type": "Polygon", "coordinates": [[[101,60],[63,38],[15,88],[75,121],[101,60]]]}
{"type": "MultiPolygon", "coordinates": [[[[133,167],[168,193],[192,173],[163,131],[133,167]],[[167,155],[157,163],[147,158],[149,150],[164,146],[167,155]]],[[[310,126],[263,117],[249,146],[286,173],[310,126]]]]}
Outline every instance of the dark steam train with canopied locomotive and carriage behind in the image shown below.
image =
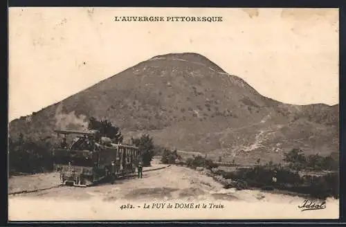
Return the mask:
{"type": "Polygon", "coordinates": [[[53,149],[53,165],[63,184],[88,186],[102,179],[115,181],[134,174],[139,157],[138,147],[111,143],[96,130],[55,130],[62,134],[60,147],[53,149]],[[71,143],[66,136],[74,135],[71,143]]]}

